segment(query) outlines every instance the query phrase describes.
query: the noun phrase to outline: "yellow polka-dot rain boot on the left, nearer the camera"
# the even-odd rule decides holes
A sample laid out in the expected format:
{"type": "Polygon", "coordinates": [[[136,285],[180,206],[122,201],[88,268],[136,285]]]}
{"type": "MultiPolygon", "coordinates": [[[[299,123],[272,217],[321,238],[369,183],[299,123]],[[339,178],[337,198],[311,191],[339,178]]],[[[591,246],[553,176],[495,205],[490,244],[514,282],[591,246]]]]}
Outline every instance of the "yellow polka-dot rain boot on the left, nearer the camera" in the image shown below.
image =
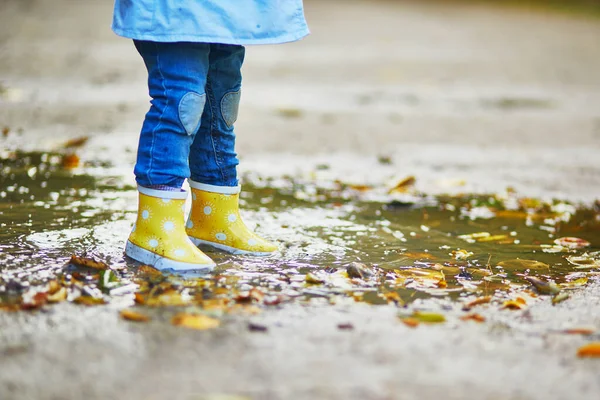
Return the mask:
{"type": "Polygon", "coordinates": [[[208,271],[215,263],[190,241],[184,226],[187,192],[138,186],[138,217],[125,254],[160,270],[208,271]]]}

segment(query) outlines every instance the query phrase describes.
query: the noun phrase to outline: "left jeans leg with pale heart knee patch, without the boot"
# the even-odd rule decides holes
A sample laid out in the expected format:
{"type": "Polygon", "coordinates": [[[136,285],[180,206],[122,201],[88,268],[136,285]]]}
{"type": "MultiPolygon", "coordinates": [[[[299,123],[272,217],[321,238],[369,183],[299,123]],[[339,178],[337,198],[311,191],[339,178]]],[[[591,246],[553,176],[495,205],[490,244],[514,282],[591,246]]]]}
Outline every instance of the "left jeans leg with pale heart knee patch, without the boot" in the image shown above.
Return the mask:
{"type": "Polygon", "coordinates": [[[180,188],[190,176],[190,146],[206,102],[210,44],[135,41],[148,69],[150,111],[142,126],[135,176],[145,187],[180,188]]]}

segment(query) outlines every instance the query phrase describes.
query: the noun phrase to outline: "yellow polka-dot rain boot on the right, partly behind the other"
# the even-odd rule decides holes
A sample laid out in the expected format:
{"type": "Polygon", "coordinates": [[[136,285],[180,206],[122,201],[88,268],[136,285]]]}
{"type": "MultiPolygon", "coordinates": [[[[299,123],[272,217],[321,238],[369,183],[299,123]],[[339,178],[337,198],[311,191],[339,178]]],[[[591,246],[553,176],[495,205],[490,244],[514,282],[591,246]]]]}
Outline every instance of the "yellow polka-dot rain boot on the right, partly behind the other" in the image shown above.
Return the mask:
{"type": "Polygon", "coordinates": [[[252,232],[239,212],[239,186],[213,186],[188,180],[192,211],[187,233],[196,245],[208,245],[232,254],[265,256],[277,250],[252,232]]]}

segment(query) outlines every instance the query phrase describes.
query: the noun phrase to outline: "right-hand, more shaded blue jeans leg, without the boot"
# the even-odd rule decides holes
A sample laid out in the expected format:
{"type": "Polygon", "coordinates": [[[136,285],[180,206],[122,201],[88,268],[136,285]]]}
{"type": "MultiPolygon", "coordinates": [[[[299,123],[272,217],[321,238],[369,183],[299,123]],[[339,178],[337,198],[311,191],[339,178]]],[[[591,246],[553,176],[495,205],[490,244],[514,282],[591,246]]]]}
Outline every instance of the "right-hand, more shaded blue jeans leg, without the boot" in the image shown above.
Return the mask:
{"type": "Polygon", "coordinates": [[[237,119],[243,46],[211,44],[206,81],[206,106],[192,144],[192,180],[216,186],[237,186],[238,165],[233,124],[237,119]]]}

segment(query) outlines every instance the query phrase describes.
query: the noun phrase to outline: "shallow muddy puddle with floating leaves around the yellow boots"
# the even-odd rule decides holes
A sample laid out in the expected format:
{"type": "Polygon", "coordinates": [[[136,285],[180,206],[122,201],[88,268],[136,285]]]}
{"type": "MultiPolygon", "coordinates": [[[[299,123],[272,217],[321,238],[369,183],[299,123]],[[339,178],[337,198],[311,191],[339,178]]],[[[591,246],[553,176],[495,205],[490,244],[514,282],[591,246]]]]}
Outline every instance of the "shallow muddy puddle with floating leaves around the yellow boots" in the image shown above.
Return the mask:
{"type": "MultiPolygon", "coordinates": [[[[139,280],[128,286],[137,264],[122,254],[135,219],[133,187],[85,172],[93,169],[66,168],[60,154],[5,153],[0,165],[0,299],[49,280],[70,282],[79,271],[69,265],[72,254],[119,270],[122,286],[133,288],[119,295],[148,289],[139,280]]],[[[385,188],[251,175],[242,203],[249,225],[277,241],[279,253],[253,258],[209,252],[218,264],[214,275],[164,279],[178,282],[175,288],[199,279],[205,294],[220,288],[220,294],[235,296],[260,287],[287,300],[352,296],[379,304],[508,293],[527,288],[527,275],[576,288],[600,270],[597,205],[542,202],[510,192],[427,197],[408,188],[390,194],[385,188]],[[353,262],[364,264],[360,276],[349,276],[353,262]]],[[[87,273],[79,279],[97,287],[97,275],[87,273]]],[[[110,301],[113,295],[100,296],[110,301]]]]}

